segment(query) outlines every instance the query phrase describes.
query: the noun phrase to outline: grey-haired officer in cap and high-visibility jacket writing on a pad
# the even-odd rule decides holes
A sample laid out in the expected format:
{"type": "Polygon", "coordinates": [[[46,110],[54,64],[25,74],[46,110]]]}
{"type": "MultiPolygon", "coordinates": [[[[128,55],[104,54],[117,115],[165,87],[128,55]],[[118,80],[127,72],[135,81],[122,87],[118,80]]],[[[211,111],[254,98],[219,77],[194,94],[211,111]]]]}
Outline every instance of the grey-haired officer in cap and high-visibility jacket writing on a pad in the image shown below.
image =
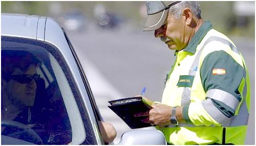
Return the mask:
{"type": "Polygon", "coordinates": [[[143,31],[175,50],[162,102],[145,123],[156,125],[169,144],[244,144],[250,90],[236,45],[201,18],[198,2],[146,2],[143,31]]]}

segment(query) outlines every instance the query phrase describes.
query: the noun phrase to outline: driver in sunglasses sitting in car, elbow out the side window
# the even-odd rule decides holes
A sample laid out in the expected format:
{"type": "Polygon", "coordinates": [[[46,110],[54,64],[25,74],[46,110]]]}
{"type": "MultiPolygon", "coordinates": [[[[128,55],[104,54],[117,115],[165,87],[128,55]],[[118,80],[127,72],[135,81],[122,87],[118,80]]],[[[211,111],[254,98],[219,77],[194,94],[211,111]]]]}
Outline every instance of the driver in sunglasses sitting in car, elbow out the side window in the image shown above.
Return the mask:
{"type": "MultiPolygon", "coordinates": [[[[58,106],[62,104],[56,104],[56,100],[49,99],[45,94],[45,81],[37,74],[40,59],[26,51],[4,50],[1,53],[2,135],[36,144],[70,144],[70,122],[68,118],[59,118],[59,115],[68,115],[63,110],[62,113],[58,112],[63,109],[63,106],[58,106]],[[12,126],[3,125],[4,121],[12,126]],[[29,135],[20,125],[31,128],[36,136],[29,135]]],[[[103,141],[112,142],[116,137],[114,127],[103,121],[99,124],[103,141]]]]}

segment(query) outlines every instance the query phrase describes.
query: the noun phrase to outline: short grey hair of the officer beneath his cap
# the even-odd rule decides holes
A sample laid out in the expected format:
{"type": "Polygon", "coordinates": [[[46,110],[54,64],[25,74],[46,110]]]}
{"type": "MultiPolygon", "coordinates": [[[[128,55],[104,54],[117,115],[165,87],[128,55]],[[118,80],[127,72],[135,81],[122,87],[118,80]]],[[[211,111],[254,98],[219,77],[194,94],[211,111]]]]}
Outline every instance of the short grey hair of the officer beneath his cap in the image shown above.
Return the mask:
{"type": "Polygon", "coordinates": [[[182,1],[169,8],[168,13],[173,14],[175,19],[181,18],[181,11],[184,8],[190,8],[192,13],[197,17],[201,18],[201,7],[196,1],[182,1]]]}

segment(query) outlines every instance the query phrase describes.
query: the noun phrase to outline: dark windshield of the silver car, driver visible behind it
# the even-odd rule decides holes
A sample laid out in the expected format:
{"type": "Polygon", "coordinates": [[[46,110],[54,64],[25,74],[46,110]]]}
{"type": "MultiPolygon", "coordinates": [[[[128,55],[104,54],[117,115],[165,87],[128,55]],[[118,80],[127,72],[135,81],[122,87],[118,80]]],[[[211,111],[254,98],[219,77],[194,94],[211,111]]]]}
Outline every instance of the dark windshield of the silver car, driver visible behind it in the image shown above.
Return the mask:
{"type": "Polygon", "coordinates": [[[41,43],[2,37],[2,142],[80,144],[87,133],[67,62],[41,43]]]}

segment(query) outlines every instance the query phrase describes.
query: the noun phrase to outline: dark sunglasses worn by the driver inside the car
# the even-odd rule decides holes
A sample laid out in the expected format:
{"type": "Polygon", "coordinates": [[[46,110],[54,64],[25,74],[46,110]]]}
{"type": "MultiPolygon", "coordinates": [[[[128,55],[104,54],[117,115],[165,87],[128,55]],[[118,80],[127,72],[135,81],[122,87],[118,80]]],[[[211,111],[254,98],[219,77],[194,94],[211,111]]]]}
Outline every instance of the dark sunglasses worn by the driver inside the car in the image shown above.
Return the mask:
{"type": "Polygon", "coordinates": [[[12,79],[22,84],[30,83],[33,79],[35,82],[40,78],[40,75],[12,75],[12,79]]]}

